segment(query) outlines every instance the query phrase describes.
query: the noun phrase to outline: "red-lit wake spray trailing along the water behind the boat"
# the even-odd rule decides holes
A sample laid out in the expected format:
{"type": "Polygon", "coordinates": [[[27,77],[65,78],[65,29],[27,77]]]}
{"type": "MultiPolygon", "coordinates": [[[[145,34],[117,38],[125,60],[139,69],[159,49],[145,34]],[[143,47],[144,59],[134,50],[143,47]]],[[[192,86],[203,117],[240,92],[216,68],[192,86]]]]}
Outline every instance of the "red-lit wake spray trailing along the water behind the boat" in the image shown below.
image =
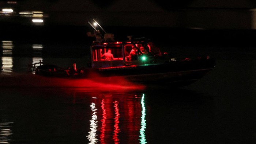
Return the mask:
{"type": "Polygon", "coordinates": [[[65,79],[48,78],[34,74],[0,75],[0,87],[67,87],[95,90],[143,90],[145,86],[128,82],[124,78],[65,79]]]}

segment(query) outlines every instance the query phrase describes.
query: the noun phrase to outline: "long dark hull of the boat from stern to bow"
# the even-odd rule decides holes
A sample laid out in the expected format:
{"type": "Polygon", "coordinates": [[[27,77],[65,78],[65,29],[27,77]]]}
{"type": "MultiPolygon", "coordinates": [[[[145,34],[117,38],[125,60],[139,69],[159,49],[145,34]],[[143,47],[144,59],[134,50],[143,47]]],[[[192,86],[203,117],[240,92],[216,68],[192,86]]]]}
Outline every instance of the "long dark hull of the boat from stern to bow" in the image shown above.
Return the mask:
{"type": "Polygon", "coordinates": [[[191,61],[174,61],[163,64],[131,65],[107,68],[82,68],[79,70],[64,70],[54,65],[42,65],[36,70],[37,75],[72,79],[94,79],[102,77],[125,78],[130,82],[146,85],[172,85],[181,87],[189,85],[202,78],[214,69],[212,59],[196,59],[191,61]]]}

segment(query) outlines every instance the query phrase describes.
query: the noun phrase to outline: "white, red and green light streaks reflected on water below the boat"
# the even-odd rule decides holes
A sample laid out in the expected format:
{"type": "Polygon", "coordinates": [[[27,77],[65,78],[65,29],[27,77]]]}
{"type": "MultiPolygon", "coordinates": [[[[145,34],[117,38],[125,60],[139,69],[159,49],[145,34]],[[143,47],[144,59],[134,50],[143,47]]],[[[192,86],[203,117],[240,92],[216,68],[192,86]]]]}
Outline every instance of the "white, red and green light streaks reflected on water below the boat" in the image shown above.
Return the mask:
{"type": "MultiPolygon", "coordinates": [[[[113,96],[115,97],[115,96],[113,96]]],[[[93,97],[95,100],[98,99],[97,97],[93,97]]],[[[108,95],[108,101],[109,98],[112,99],[112,95],[108,95]]],[[[134,97],[134,98],[138,98],[138,97],[134,97]]],[[[124,105],[124,108],[128,107],[131,109],[133,109],[133,111],[135,110],[139,110],[140,108],[142,108],[142,115],[141,115],[141,129],[139,130],[138,133],[140,133],[140,136],[138,136],[137,139],[140,138],[140,144],[145,144],[146,142],[146,135],[145,135],[145,129],[146,129],[146,120],[145,120],[145,115],[146,115],[146,109],[144,107],[144,94],[141,98],[141,104],[142,106],[136,107],[134,108],[133,105],[124,105]]],[[[94,100],[94,102],[95,102],[94,100]]],[[[119,133],[120,132],[125,132],[125,131],[130,131],[128,132],[129,134],[132,134],[133,136],[136,136],[135,133],[133,131],[136,131],[136,129],[138,129],[139,125],[136,125],[133,129],[120,129],[120,125],[126,125],[124,124],[124,115],[126,115],[126,111],[127,110],[122,110],[123,113],[120,113],[120,100],[115,100],[112,102],[112,106],[110,106],[111,103],[108,103],[108,108],[105,107],[105,98],[102,98],[101,102],[98,103],[96,102],[96,104],[94,102],[91,103],[90,107],[91,107],[91,120],[90,120],[90,131],[89,131],[89,135],[87,135],[87,139],[90,141],[90,144],[97,144],[98,141],[100,141],[101,144],[106,144],[106,143],[110,143],[110,135],[112,133],[112,139],[113,142],[111,143],[115,143],[118,144],[120,143],[120,136],[119,133]],[[110,106],[110,107],[109,107],[110,106]],[[97,109],[97,107],[101,108],[101,112],[97,109]],[[108,113],[107,113],[108,112],[108,113]],[[113,113],[111,113],[113,112],[113,113]],[[97,116],[97,113],[101,113],[101,116],[97,116]],[[123,119],[122,121],[120,121],[120,118],[123,119]],[[101,120],[99,120],[101,119],[101,120]],[[101,122],[100,126],[98,127],[98,122],[101,122]],[[113,126],[112,126],[113,125],[113,126]],[[98,132],[97,132],[98,131],[98,132]],[[111,132],[112,131],[112,132],[111,132]],[[132,132],[132,133],[131,133],[132,132]],[[97,134],[98,133],[98,134],[97,134]]],[[[111,102],[111,100],[109,101],[111,102]]],[[[121,102],[122,104],[125,104],[124,102],[121,102]]],[[[129,111],[128,111],[129,112],[129,111]]],[[[139,112],[139,111],[138,111],[139,112]]],[[[138,113],[139,114],[139,113],[138,113]]],[[[137,117],[135,115],[135,113],[133,113],[132,115],[130,115],[131,120],[135,121],[137,117]]],[[[128,121],[128,123],[134,123],[132,121],[128,121]]],[[[136,122],[137,124],[139,124],[139,122],[136,122]]],[[[122,127],[125,128],[125,127],[122,127]]],[[[131,137],[131,136],[129,136],[131,137]]],[[[129,140],[131,141],[131,140],[129,140]]],[[[137,141],[136,141],[137,142],[137,141]]]]}

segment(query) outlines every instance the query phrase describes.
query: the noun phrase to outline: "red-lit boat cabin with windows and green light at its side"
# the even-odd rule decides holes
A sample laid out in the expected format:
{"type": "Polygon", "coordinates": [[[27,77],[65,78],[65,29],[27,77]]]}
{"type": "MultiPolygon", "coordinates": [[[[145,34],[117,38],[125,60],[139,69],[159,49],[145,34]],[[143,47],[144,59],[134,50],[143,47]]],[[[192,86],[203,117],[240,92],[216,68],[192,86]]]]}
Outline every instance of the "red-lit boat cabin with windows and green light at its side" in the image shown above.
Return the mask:
{"type": "Polygon", "coordinates": [[[148,57],[161,56],[158,47],[147,40],[127,40],[113,42],[94,42],[91,45],[91,67],[122,67],[144,65],[152,63],[148,57]],[[144,48],[144,50],[143,50],[144,48]],[[102,58],[103,54],[111,50],[113,59],[102,58]],[[132,55],[133,51],[135,55],[132,55]],[[130,54],[131,53],[131,54],[130,54]]]}

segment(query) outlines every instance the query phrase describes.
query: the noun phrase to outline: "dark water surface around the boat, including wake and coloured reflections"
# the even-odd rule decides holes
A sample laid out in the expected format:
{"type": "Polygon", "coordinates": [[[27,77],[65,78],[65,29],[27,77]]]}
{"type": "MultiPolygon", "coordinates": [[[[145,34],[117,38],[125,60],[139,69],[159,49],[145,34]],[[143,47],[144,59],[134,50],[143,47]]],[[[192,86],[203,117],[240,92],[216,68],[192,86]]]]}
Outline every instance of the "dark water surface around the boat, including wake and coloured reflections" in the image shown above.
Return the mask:
{"type": "Polygon", "coordinates": [[[57,82],[26,73],[39,59],[65,68],[74,62],[86,66],[86,46],[2,41],[0,143],[256,142],[254,47],[165,48],[172,55],[207,54],[216,60],[214,70],[179,89],[123,79],[57,82]]]}

